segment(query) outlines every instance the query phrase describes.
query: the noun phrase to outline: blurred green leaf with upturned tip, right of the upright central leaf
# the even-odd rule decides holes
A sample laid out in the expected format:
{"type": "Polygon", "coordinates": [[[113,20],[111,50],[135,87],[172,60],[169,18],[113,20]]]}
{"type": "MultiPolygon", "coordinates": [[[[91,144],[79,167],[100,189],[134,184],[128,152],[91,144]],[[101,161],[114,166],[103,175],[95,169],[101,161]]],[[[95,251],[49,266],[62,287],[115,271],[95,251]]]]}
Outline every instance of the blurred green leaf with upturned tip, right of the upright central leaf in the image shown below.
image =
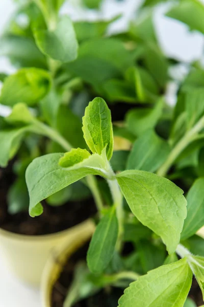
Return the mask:
{"type": "Polygon", "coordinates": [[[127,128],[137,137],[142,135],[148,129],[156,126],[162,115],[162,108],[163,100],[160,99],[153,108],[132,109],[125,117],[127,128]]]}

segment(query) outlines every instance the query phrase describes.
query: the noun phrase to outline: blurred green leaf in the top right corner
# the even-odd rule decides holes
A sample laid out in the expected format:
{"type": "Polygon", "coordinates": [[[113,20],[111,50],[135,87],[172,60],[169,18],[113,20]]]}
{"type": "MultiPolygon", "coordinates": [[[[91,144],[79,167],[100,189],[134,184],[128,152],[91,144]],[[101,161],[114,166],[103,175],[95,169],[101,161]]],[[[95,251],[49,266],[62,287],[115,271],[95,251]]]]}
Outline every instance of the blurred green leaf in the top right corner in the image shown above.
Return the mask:
{"type": "Polygon", "coordinates": [[[182,21],[190,30],[204,34],[204,7],[198,0],[183,0],[170,9],[166,16],[182,21]]]}

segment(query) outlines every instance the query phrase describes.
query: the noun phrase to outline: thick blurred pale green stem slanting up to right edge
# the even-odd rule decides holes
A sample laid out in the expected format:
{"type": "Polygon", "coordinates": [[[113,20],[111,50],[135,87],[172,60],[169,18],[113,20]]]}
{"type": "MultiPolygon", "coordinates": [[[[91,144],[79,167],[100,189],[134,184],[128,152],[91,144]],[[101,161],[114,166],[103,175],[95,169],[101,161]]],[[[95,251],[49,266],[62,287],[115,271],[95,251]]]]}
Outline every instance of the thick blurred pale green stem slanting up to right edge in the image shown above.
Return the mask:
{"type": "Polygon", "coordinates": [[[204,116],[195,124],[184,137],[175,145],[175,147],[170,152],[167,160],[159,168],[157,174],[159,176],[165,177],[169,168],[174,163],[174,161],[179,157],[180,153],[193,141],[196,139],[198,133],[204,128],[204,116]]]}

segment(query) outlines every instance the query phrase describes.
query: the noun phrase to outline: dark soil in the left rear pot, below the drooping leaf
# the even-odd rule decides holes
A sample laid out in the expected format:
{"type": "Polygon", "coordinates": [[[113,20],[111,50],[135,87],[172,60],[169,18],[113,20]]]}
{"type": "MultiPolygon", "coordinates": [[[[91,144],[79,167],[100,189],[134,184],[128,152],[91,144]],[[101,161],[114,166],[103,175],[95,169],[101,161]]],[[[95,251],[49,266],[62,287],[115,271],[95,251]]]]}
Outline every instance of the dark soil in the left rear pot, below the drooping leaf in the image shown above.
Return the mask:
{"type": "Polygon", "coordinates": [[[96,213],[93,199],[87,199],[58,207],[49,206],[44,201],[43,214],[35,218],[28,211],[11,215],[7,193],[14,180],[11,162],[6,169],[0,169],[0,227],[5,230],[25,235],[51,234],[75,226],[96,213]]]}

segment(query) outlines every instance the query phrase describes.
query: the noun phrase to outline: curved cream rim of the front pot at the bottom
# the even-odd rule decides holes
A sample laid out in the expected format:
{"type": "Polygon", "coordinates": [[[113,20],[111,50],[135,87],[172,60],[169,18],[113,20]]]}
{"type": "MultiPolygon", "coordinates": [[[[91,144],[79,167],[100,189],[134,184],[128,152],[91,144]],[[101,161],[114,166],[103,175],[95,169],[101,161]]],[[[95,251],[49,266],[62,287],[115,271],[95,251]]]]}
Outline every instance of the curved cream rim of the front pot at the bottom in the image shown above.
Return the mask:
{"type": "Polygon", "coordinates": [[[94,230],[95,225],[93,222],[88,222],[81,225],[81,227],[78,228],[77,236],[73,236],[61,246],[56,247],[53,253],[50,254],[42,274],[42,307],[51,306],[53,286],[62,272],[65,262],[75,251],[77,251],[91,238],[94,230]]]}

